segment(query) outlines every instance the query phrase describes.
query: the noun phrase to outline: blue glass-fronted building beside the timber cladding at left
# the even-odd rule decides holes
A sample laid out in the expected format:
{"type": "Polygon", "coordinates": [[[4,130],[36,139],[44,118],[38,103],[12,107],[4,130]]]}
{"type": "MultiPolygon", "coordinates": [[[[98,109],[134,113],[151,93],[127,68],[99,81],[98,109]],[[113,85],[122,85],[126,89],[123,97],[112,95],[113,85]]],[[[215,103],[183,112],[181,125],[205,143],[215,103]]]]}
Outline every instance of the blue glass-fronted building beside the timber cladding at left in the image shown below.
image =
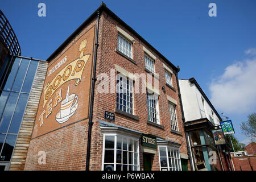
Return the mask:
{"type": "Polygon", "coordinates": [[[6,58],[0,71],[0,171],[9,168],[39,60],[6,58]]]}

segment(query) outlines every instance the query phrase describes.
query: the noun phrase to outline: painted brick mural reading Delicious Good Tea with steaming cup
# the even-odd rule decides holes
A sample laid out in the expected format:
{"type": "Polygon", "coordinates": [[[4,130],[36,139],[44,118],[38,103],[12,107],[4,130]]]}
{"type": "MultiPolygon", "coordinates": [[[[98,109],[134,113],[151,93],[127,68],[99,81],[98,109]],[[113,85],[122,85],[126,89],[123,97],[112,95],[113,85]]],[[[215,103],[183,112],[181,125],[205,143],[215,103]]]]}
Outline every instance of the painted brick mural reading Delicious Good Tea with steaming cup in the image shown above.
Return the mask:
{"type": "Polygon", "coordinates": [[[32,138],[89,117],[95,26],[48,65],[32,138]]]}

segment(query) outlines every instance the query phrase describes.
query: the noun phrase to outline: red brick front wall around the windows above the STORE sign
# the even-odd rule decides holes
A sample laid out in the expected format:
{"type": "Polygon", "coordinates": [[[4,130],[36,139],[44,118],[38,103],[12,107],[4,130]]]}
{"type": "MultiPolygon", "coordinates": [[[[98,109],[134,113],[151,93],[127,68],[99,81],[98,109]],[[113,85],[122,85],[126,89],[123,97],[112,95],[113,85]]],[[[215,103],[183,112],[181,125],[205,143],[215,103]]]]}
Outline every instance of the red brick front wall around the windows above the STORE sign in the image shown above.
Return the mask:
{"type": "MultiPolygon", "coordinates": [[[[145,46],[141,40],[139,40],[135,35],[131,34],[127,30],[133,38],[135,42],[133,43],[133,60],[137,62],[137,65],[131,63],[131,61],[127,60],[125,57],[119,55],[115,52],[117,48],[117,35],[118,31],[116,25],[123,28],[121,24],[118,24],[112,17],[106,15],[105,13],[101,14],[100,18],[100,30],[99,30],[99,38],[98,38],[98,54],[97,54],[97,75],[100,73],[107,73],[110,76],[110,69],[115,69],[114,64],[119,65],[120,67],[126,69],[130,73],[147,73],[144,71],[145,63],[144,63],[144,51],[142,46],[145,46]]],[[[147,47],[150,50],[150,48],[147,47]]],[[[152,50],[150,50],[154,53],[152,50]]],[[[145,134],[156,135],[160,138],[164,138],[167,140],[172,140],[174,142],[180,143],[180,152],[187,154],[187,147],[185,141],[184,127],[182,122],[181,115],[181,107],[180,101],[178,97],[178,89],[175,74],[172,75],[173,86],[176,89],[176,92],[165,84],[165,75],[164,75],[164,67],[163,60],[154,53],[156,56],[155,60],[155,71],[159,73],[159,110],[160,110],[160,125],[164,126],[164,130],[158,127],[148,125],[147,124],[147,103],[146,103],[146,94],[134,94],[134,115],[139,117],[139,121],[128,118],[124,115],[115,113],[115,121],[112,122],[115,125],[127,127],[129,129],[137,130],[145,134]],[[164,93],[161,86],[165,86],[166,92],[164,93]],[[167,96],[171,96],[174,98],[177,105],[177,121],[179,125],[179,131],[182,136],[177,135],[175,133],[171,133],[171,123],[170,123],[170,113],[168,107],[167,96]]],[[[167,63],[165,63],[167,65],[167,63]]],[[[172,69],[171,67],[169,67],[172,69]]],[[[175,73],[175,71],[172,69],[175,73]]],[[[116,72],[115,72],[116,73],[116,72]]],[[[154,79],[154,78],[153,78],[154,79]]],[[[91,151],[91,159],[90,159],[90,169],[91,170],[100,170],[101,169],[101,155],[102,155],[102,133],[99,128],[98,119],[102,121],[110,122],[104,119],[104,111],[110,111],[114,113],[114,109],[116,107],[116,93],[104,93],[100,94],[97,92],[97,86],[99,84],[99,80],[96,82],[95,88],[95,97],[94,97],[94,109],[93,109],[93,130],[92,130],[92,151],[91,151]]],[[[154,86],[154,84],[152,83],[154,86]]],[[[110,88],[110,81],[109,81],[110,88]]],[[[140,166],[141,170],[143,169],[143,157],[142,151],[140,148],[140,166]]],[[[189,166],[189,164],[188,164],[189,166]]],[[[158,159],[158,151],[156,152],[152,164],[153,170],[159,170],[159,159],[158,159]]]]}

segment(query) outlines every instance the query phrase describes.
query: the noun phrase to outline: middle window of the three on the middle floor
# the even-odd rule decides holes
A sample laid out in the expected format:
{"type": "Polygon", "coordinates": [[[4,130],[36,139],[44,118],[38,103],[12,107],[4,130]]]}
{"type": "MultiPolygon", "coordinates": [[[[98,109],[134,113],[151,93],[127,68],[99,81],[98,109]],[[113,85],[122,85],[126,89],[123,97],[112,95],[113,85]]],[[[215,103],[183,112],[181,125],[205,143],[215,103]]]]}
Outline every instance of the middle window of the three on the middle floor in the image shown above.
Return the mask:
{"type": "Polygon", "coordinates": [[[150,122],[153,122],[153,123],[156,123],[156,124],[160,125],[158,97],[159,96],[157,94],[154,94],[154,93],[151,94],[147,91],[147,121],[150,121],[150,122]],[[150,95],[151,97],[154,97],[154,99],[148,101],[148,95],[150,95]],[[153,103],[152,101],[154,101],[155,103],[153,103]],[[155,107],[149,106],[148,102],[150,102],[151,105],[154,104],[155,107]],[[149,112],[148,109],[151,109],[151,108],[155,109],[155,111],[150,110],[150,113],[152,113],[152,116],[151,116],[152,119],[150,118],[150,115],[148,115],[148,112],[149,112]],[[153,116],[154,114],[155,114],[155,117],[153,116]]]}

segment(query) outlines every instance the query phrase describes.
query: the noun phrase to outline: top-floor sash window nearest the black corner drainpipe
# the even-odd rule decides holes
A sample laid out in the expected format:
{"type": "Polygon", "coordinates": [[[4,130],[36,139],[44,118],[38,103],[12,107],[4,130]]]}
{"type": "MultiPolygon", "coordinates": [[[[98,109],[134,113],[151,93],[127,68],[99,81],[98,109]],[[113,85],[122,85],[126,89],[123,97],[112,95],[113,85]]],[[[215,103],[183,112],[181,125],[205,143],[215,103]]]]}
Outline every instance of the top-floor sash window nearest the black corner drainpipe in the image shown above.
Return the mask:
{"type": "Polygon", "coordinates": [[[126,55],[127,57],[133,59],[133,43],[131,43],[129,40],[127,40],[120,34],[117,35],[117,50],[126,55]],[[120,38],[123,39],[122,44],[120,38]],[[130,49],[129,47],[127,47],[127,44],[130,46],[130,49]]]}

